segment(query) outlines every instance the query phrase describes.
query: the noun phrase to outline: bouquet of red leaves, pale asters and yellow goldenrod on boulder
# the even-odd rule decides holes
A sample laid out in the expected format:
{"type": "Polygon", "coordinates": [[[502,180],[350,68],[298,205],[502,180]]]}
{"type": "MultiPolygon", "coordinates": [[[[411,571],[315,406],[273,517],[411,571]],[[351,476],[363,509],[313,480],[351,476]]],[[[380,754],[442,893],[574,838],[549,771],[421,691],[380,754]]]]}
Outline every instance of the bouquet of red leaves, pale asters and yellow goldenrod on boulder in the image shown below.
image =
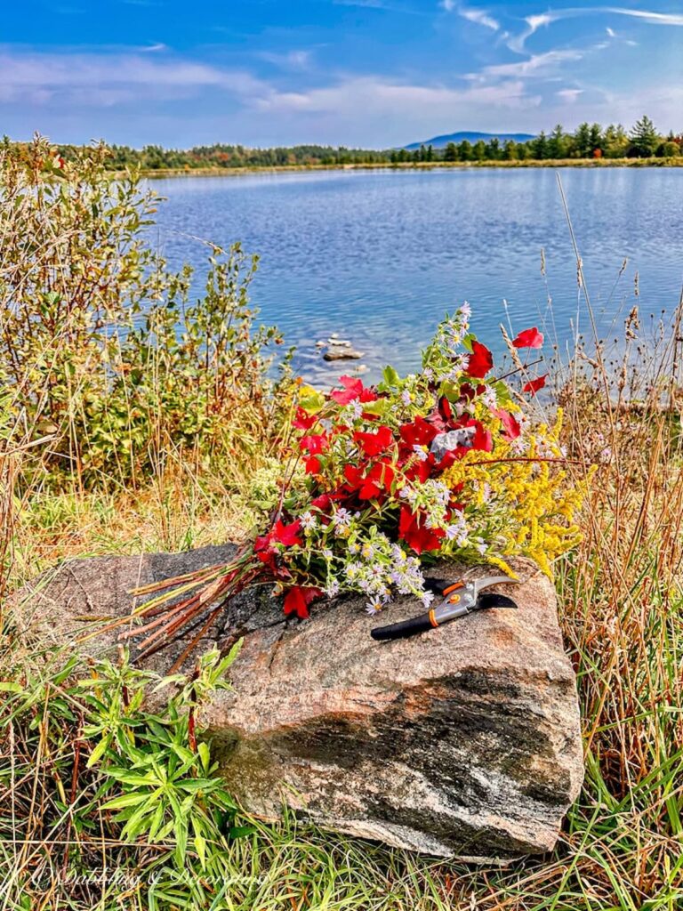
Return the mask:
{"type": "Polygon", "coordinates": [[[441,323],[419,374],[387,367],[373,387],[342,376],[328,395],[301,387],[288,451],[257,479],[260,534],[226,565],[138,589],[157,597],[138,609],[142,627],[125,635],[140,635],[150,654],[193,634],[181,662],[253,583],[273,583],[285,614],[307,618],[313,601],[345,592],[362,593],[370,613],[394,594],[426,607],[433,594],[423,568],[436,558],[514,575],[505,560],[524,554],[549,572],[576,544],[581,494],[563,467],[561,414],[553,428],[525,415],[545,376],[530,379],[516,350],[539,348],[543,336],[528,329],[510,343],[509,375],[522,374],[515,391],[495,378],[469,315],[465,304],[441,323]]]}

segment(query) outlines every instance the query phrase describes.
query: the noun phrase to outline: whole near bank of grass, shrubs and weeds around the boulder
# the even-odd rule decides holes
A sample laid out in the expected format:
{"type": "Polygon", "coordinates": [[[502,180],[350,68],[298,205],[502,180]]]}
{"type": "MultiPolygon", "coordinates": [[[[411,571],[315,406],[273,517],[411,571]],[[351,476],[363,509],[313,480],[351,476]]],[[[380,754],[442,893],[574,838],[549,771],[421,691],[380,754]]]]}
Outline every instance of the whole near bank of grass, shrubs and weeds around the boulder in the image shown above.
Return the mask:
{"type": "MultiPolygon", "coordinates": [[[[133,670],[69,664],[19,632],[8,596],[66,556],[244,534],[247,479],[278,457],[296,384],[286,365],[267,379],[279,336],[257,328],[240,251],[209,248],[190,306],[189,273],[139,238],[157,200],[112,187],[97,157],[52,160],[38,145],[33,168],[0,162],[0,907],[683,906],[681,309],[670,333],[625,314],[614,350],[591,343],[555,372],[575,470],[599,469],[584,540],[556,567],[586,783],[553,855],[437,863],[291,818],[265,826],[213,783],[203,804],[178,813],[168,798],[163,824],[126,828],[107,802],[139,797],[136,763],[151,754],[168,773],[179,752],[211,781],[210,762],[187,758],[183,722],[145,714],[133,670]]],[[[202,673],[216,685],[216,668],[202,673]]]]}

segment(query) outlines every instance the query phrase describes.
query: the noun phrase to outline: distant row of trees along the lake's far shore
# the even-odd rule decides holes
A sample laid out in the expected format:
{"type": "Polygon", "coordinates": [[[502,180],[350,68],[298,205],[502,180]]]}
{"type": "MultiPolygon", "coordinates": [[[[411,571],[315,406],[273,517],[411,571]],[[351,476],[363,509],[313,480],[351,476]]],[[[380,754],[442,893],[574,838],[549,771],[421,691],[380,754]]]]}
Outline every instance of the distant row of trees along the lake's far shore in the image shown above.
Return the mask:
{"type": "MultiPolygon", "coordinates": [[[[527,142],[493,138],[489,142],[450,142],[445,148],[422,146],[413,150],[293,146],[291,148],[246,148],[217,143],[189,149],[145,146],[109,146],[107,167],[123,170],[192,170],[220,168],[311,167],[357,164],[401,164],[430,161],[543,161],[561,159],[675,158],[683,154],[683,134],[663,136],[648,117],[640,118],[627,130],[621,124],[580,124],[573,133],[558,124],[527,142]]],[[[78,147],[60,146],[65,159],[76,157],[78,147]]]]}

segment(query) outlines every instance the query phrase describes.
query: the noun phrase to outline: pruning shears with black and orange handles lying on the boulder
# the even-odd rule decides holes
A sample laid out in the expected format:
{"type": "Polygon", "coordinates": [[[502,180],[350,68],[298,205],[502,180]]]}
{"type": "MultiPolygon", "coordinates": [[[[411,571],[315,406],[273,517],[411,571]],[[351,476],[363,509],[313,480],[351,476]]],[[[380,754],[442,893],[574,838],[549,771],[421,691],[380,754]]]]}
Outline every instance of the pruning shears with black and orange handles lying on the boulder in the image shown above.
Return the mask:
{"type": "Polygon", "coordinates": [[[442,623],[464,617],[473,610],[517,607],[515,601],[506,595],[484,591],[484,589],[490,589],[491,586],[500,585],[503,582],[519,582],[519,579],[509,576],[484,576],[484,578],[460,579],[458,582],[449,582],[443,578],[426,578],[424,581],[427,589],[441,595],[441,602],[418,617],[402,620],[400,623],[392,623],[385,627],[375,627],[370,631],[372,639],[378,641],[405,639],[418,632],[435,630],[442,623]]]}

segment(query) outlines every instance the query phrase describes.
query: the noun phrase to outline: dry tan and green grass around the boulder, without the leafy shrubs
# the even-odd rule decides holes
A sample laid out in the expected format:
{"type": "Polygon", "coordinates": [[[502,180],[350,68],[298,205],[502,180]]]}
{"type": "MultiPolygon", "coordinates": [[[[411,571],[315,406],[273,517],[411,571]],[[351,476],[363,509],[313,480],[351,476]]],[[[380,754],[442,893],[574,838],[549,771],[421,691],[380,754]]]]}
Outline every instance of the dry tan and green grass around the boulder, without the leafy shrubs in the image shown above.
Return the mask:
{"type": "MultiPolygon", "coordinates": [[[[170,836],[141,835],[127,844],[97,796],[107,776],[97,765],[87,769],[95,740],[84,732],[97,709],[84,703],[75,680],[93,669],[65,675],[68,656],[17,635],[6,596],[62,558],[189,548],[243,534],[236,473],[221,466],[239,456],[240,466],[251,458],[256,468],[269,457],[264,447],[272,439],[258,436],[254,417],[247,453],[226,455],[213,430],[210,458],[168,441],[152,458],[147,441],[151,464],[135,483],[113,469],[84,483],[77,472],[55,467],[54,436],[41,430],[39,410],[17,401],[21,384],[5,386],[0,911],[683,907],[683,307],[670,327],[655,326],[654,333],[640,327],[635,311],[623,319],[616,351],[594,340],[556,366],[570,455],[599,465],[584,540],[556,577],[577,673],[586,782],[556,851],[507,868],[436,862],[324,834],[288,814],[274,826],[240,815],[240,837],[209,840],[209,872],[198,873],[190,848],[183,876],[171,859],[170,836]]],[[[73,410],[62,420],[73,423],[73,410]]],[[[155,434],[160,425],[159,419],[155,434]]],[[[59,427],[51,433],[58,438],[59,427]]]]}

